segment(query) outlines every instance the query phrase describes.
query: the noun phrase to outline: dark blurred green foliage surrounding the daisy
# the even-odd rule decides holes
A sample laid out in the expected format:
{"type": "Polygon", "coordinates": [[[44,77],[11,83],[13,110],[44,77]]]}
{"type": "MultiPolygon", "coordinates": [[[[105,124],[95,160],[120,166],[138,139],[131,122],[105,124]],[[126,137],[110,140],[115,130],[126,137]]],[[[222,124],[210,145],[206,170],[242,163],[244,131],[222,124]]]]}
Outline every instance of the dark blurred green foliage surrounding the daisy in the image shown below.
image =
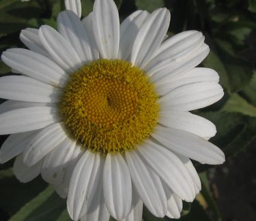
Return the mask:
{"type": "MultiPolygon", "coordinates": [[[[135,10],[152,12],[158,7],[171,11],[169,36],[185,30],[205,35],[211,52],[201,64],[221,77],[225,97],[197,110],[217,127],[210,141],[226,155],[226,163],[205,166],[195,163],[202,191],[193,203],[185,203],[181,221],[256,220],[256,0],[115,0],[120,20],[135,10]]],[[[83,17],[94,0],[82,0],[83,17]]],[[[23,48],[21,29],[42,24],[56,27],[64,10],[57,0],[0,0],[0,53],[23,48]]],[[[0,61],[0,74],[10,69],[0,61]]],[[[3,100],[1,100],[3,102],[3,100]]],[[[0,144],[7,136],[0,137],[0,144]]],[[[68,221],[66,200],[55,194],[41,177],[21,184],[12,173],[13,161],[0,165],[0,221],[68,221]]],[[[144,221],[154,218],[146,209],[144,221]]]]}

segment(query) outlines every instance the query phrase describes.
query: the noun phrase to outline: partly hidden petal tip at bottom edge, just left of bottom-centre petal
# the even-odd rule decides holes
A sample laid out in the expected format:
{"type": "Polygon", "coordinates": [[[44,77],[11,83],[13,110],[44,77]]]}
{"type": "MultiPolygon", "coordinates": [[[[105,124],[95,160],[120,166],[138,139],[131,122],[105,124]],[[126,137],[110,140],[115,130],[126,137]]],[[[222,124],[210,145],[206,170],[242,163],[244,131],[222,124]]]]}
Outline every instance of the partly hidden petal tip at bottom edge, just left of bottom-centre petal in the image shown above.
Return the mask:
{"type": "Polygon", "coordinates": [[[104,197],[103,197],[103,190],[102,187],[98,188],[98,191],[96,194],[98,194],[98,198],[100,203],[98,204],[98,207],[96,209],[89,211],[83,218],[81,218],[81,221],[109,221],[109,211],[106,209],[106,205],[104,203],[104,197]]]}

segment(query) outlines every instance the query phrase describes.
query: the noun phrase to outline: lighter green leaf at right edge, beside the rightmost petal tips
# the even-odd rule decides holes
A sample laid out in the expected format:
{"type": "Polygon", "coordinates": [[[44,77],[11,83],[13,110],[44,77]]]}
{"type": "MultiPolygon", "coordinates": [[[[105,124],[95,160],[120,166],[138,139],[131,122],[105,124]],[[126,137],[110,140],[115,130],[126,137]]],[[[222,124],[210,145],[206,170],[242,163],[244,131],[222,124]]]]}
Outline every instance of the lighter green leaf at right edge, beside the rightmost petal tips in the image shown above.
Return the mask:
{"type": "Polygon", "coordinates": [[[238,112],[248,116],[256,117],[256,107],[248,103],[238,94],[233,94],[223,106],[223,111],[238,112]]]}

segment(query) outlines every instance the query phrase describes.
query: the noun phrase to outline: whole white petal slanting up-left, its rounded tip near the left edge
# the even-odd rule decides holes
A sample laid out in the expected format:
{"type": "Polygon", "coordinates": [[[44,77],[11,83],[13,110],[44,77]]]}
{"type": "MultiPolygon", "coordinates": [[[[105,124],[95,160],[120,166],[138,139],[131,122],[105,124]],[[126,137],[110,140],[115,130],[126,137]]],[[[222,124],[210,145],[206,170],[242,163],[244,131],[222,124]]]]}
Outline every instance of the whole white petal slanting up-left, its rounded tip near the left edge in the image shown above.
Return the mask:
{"type": "Polygon", "coordinates": [[[47,84],[61,86],[68,75],[61,67],[41,54],[23,48],[12,48],[3,52],[2,61],[31,78],[47,84]]]}

